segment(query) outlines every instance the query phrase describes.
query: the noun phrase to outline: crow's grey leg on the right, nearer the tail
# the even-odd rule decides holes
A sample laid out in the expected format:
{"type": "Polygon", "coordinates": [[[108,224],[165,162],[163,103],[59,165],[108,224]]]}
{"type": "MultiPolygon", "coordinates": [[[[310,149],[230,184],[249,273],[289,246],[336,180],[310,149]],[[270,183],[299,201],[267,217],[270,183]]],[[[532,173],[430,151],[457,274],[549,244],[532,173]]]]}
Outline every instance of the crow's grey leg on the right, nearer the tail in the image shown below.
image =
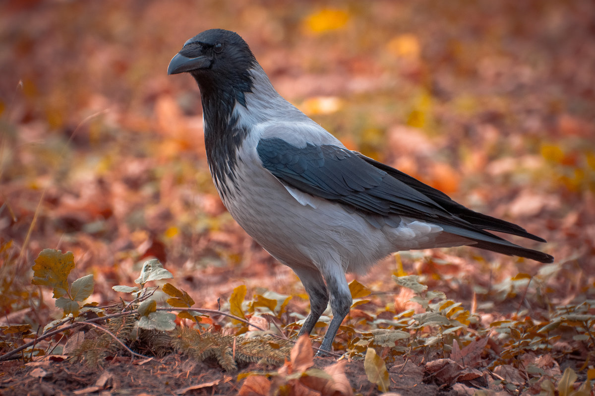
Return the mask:
{"type": "MultiPolygon", "coordinates": [[[[351,297],[351,292],[349,291],[349,285],[347,285],[347,280],[345,279],[345,274],[340,266],[333,267],[329,273],[325,273],[324,279],[327,281],[328,291],[330,292],[333,320],[331,320],[330,325],[328,325],[320,349],[322,351],[330,352],[333,347],[333,340],[339,330],[339,326],[343,323],[343,319],[345,319],[347,314],[349,314],[353,299],[351,297]]],[[[318,354],[320,355],[321,353],[319,352],[318,354]]]]}

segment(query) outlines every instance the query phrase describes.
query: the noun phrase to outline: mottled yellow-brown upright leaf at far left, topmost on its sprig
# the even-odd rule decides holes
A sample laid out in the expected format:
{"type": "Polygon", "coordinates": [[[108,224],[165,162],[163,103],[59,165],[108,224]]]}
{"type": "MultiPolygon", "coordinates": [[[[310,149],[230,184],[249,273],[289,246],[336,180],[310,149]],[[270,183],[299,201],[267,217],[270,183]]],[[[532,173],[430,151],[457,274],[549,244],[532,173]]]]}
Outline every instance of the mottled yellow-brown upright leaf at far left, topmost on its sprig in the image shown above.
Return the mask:
{"type": "Polygon", "coordinates": [[[33,264],[33,285],[54,288],[54,298],[65,295],[68,291],[68,274],[74,268],[73,252],[44,249],[33,264]]]}

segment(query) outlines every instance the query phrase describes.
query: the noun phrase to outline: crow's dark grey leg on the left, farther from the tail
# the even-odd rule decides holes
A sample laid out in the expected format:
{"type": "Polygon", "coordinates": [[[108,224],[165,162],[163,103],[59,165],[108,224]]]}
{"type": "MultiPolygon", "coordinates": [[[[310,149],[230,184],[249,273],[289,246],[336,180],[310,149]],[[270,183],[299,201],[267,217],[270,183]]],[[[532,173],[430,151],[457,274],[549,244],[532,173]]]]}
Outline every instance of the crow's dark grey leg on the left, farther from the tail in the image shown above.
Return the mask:
{"type": "Polygon", "coordinates": [[[318,270],[299,268],[293,269],[296,275],[302,280],[303,287],[310,298],[310,313],[306,317],[302,328],[299,330],[298,336],[302,334],[310,334],[314,326],[320,319],[320,316],[328,305],[328,291],[324,284],[322,275],[318,270]]]}

